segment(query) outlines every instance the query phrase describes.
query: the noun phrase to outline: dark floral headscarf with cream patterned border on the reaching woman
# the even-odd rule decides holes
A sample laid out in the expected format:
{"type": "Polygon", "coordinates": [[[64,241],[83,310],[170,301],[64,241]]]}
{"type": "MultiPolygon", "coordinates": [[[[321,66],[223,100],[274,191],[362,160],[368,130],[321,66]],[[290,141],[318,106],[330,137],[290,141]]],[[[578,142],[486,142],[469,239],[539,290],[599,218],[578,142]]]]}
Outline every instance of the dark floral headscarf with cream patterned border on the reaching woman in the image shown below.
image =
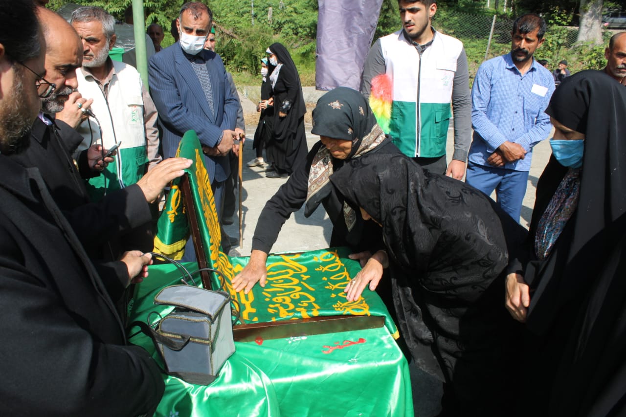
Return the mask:
{"type": "MultiPolygon", "coordinates": [[[[352,142],[352,150],[348,157],[340,162],[332,158],[326,147],[322,145],[319,148],[309,170],[305,206],[307,217],[331,192],[332,185],[328,178],[336,168],[339,168],[336,167],[337,163],[343,165],[351,158],[360,157],[381,145],[386,139],[367,100],[359,91],[347,87],[335,88],[317,100],[316,108],[313,110],[311,133],[332,139],[349,140],[352,142]]],[[[354,219],[346,220],[352,222],[354,219]]],[[[349,229],[352,228],[352,225],[347,225],[349,229]]]]}

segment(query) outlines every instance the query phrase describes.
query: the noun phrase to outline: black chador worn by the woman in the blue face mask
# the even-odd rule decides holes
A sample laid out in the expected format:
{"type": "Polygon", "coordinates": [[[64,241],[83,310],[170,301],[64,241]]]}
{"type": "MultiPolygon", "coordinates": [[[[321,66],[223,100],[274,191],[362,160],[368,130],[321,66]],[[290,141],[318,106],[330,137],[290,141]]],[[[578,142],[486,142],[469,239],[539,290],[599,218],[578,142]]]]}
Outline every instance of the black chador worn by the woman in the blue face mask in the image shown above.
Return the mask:
{"type": "MultiPolygon", "coordinates": [[[[582,71],[561,83],[546,113],[584,133],[585,150],[577,211],[550,256],[525,272],[535,288],[527,325],[558,351],[548,358],[560,363],[548,414],[617,415],[626,386],[626,90],[582,71]]],[[[566,172],[550,158],[531,234],[566,172]]]]}

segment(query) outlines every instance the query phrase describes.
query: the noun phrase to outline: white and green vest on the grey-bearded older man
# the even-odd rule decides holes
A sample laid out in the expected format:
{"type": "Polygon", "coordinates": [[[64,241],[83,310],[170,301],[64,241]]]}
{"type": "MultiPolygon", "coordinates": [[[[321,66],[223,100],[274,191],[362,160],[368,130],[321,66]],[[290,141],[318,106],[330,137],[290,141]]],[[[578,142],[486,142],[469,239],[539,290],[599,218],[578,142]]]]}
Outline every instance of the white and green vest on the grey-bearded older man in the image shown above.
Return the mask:
{"type": "Polygon", "coordinates": [[[115,74],[108,86],[108,100],[92,76],[85,77],[80,68],[76,70],[78,91],[86,99],[93,98],[91,110],[98,118],[90,117],[78,126],[78,133],[85,138],[78,151],[100,143],[100,137],[106,149],[121,142],[115,162],[86,184],[93,201],[100,200],[107,190],[136,183],[148,163],[141,77],[125,63],[113,61],[113,66],[115,74]]]}

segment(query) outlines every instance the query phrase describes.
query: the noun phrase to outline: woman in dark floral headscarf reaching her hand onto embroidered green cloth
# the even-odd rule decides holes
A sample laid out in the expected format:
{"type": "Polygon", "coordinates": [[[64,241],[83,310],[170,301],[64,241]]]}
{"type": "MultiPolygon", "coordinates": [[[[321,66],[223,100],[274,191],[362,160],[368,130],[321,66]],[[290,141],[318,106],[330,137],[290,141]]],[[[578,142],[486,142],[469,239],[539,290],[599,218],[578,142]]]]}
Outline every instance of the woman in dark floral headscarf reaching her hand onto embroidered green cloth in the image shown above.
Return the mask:
{"type": "Polygon", "coordinates": [[[324,206],[333,225],[331,246],[351,247],[356,252],[351,257],[362,260],[362,264],[367,252],[373,252],[374,255],[368,257],[366,272],[382,269],[377,263],[381,254],[376,251],[382,245],[380,230],[371,222],[363,222],[358,210],[344,204],[329,177],[348,160],[374,153],[386,159],[399,155],[400,151],[377,125],[367,100],[351,88],[336,88],[317,101],[311,133],[319,135],[321,140],[313,145],[305,163],[299,165],[265,204],[254,231],[250,262],[233,279],[235,291],[249,292],[259,281],[265,286],[267,254],[285,220],[302,205],[305,205],[305,217],[320,204],[324,206]]]}

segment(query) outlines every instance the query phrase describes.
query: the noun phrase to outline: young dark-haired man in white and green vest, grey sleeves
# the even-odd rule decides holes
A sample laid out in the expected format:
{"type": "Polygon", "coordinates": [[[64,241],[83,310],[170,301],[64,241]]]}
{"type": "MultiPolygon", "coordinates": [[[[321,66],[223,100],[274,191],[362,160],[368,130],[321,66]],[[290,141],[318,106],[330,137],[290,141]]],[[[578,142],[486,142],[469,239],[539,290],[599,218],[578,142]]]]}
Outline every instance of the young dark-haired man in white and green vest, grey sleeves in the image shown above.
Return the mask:
{"type": "Polygon", "coordinates": [[[369,98],[372,80],[386,75],[392,90],[389,135],[393,142],[422,167],[461,180],[471,142],[468,62],[463,43],[431,26],[437,11],[433,1],[399,0],[398,6],[403,29],[377,39],[370,49],[361,93],[369,98]],[[454,153],[446,168],[450,103],[454,153]]]}

